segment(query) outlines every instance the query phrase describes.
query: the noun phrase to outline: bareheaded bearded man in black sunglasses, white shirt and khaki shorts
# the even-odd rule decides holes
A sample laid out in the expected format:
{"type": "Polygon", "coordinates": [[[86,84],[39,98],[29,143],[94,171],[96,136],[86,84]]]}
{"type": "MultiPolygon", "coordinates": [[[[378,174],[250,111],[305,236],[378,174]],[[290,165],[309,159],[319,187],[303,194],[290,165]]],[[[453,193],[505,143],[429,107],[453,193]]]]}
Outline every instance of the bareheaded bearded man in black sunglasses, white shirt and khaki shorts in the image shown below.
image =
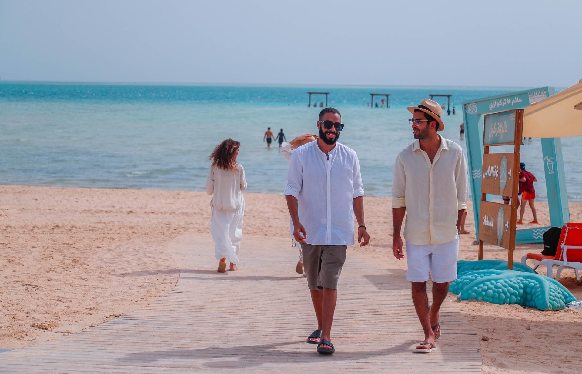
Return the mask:
{"type": "Polygon", "coordinates": [[[317,330],[307,343],[318,344],[317,351],[322,354],[335,352],[331,326],[347,246],[354,244],[354,214],[360,247],[370,241],[364,226],[358,157],[337,143],[343,129],[341,120],[337,109],[321,110],[317,121],[320,136],[293,152],[285,183],[293,237],[303,250],[307,286],[317,316],[317,330]]]}

